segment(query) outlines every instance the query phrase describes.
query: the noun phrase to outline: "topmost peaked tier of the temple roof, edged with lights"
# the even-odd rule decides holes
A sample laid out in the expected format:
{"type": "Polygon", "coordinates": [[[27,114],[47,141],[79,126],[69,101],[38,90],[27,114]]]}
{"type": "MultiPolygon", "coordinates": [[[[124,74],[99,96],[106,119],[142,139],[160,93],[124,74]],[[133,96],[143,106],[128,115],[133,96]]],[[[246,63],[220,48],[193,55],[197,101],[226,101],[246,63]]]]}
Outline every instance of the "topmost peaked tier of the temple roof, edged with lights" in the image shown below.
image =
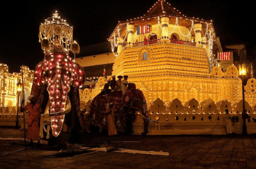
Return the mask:
{"type": "Polygon", "coordinates": [[[181,13],[178,12],[175,8],[171,6],[170,3],[165,2],[165,0],[158,0],[152,8],[144,15],[144,17],[160,15],[160,14],[170,14],[181,16],[181,13]]]}

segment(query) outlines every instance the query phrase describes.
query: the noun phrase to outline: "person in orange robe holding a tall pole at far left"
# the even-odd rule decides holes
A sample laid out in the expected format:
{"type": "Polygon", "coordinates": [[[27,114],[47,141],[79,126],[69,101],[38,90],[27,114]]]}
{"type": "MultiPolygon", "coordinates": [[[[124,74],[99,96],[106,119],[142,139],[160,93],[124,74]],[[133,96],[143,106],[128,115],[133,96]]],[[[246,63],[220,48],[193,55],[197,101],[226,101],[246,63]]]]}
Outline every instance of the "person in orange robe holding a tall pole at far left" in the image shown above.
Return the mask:
{"type": "MultiPolygon", "coordinates": [[[[27,103],[26,106],[23,108],[21,106],[21,111],[28,111],[29,113],[29,119],[28,119],[28,141],[30,141],[30,144],[28,146],[33,146],[33,141],[38,141],[37,146],[40,146],[40,128],[39,128],[39,118],[40,113],[42,112],[41,105],[37,103],[37,99],[35,96],[30,95],[29,101],[31,103],[27,103]]],[[[21,101],[21,105],[23,105],[24,100],[21,101]]]]}

